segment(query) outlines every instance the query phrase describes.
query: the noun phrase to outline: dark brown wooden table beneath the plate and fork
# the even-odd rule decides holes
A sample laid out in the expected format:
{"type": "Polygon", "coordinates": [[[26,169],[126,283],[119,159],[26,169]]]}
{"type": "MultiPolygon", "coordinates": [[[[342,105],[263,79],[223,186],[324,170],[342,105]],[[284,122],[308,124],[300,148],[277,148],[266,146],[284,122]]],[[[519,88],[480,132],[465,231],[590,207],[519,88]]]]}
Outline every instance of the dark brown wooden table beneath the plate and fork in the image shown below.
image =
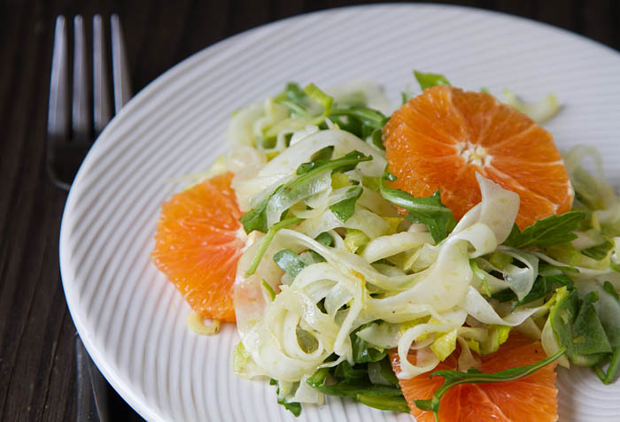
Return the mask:
{"type": "MultiPolygon", "coordinates": [[[[74,324],[58,271],[66,192],[44,167],[54,19],[116,12],[135,91],[230,35],[349,1],[0,1],[0,420],[74,420],[74,324]]],[[[444,3],[444,2],[442,2],[444,3]]],[[[513,13],[620,49],[620,2],[452,2],[513,13]]],[[[620,71],[620,69],[618,69],[620,71]]],[[[587,79],[587,75],[584,75],[587,79]]],[[[576,83],[585,83],[576,81],[576,83]]],[[[114,402],[114,420],[130,416],[114,402]]]]}

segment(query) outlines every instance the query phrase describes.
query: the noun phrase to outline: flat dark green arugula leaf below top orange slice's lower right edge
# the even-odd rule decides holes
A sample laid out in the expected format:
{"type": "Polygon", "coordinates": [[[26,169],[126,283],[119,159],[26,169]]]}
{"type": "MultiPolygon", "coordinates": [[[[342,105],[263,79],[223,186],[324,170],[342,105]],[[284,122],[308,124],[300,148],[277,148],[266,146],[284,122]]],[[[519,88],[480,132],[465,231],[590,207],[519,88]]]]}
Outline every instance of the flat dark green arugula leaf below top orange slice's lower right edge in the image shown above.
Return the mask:
{"type": "Polygon", "coordinates": [[[523,232],[513,226],[513,231],[503,243],[514,248],[546,248],[559,243],[566,243],[577,239],[579,223],[585,219],[585,211],[569,211],[560,215],[552,215],[546,219],[539,219],[523,232]]]}

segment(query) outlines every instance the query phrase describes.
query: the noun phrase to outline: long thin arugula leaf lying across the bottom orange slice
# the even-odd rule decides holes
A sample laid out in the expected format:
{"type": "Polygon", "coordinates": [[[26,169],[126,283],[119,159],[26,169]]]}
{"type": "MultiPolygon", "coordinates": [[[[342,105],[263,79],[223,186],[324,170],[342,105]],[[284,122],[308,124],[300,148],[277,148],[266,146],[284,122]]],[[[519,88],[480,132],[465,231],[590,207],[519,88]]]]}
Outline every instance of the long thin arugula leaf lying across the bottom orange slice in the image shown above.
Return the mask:
{"type": "Polygon", "coordinates": [[[415,400],[415,405],[422,410],[430,410],[435,414],[435,420],[439,421],[439,401],[450,388],[459,384],[483,384],[488,382],[508,382],[520,380],[527,377],[533,372],[538,371],[547,364],[554,362],[555,359],[561,357],[566,352],[565,348],[559,349],[550,357],[546,357],[536,364],[526,366],[516,366],[515,368],[506,369],[500,372],[484,373],[476,369],[470,369],[468,372],[461,371],[435,371],[430,374],[430,378],[434,376],[444,377],[444,384],[435,390],[432,398],[427,400],[415,400]]]}

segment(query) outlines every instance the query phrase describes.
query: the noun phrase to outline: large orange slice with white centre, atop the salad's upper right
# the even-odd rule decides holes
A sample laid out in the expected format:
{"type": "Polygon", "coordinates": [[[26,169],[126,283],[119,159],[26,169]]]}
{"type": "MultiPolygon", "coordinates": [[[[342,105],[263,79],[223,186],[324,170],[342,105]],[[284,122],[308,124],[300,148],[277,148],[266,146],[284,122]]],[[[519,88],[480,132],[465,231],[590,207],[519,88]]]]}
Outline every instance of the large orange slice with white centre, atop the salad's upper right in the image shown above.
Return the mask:
{"type": "Polygon", "coordinates": [[[521,197],[516,224],[570,211],[574,192],[551,134],[485,93],[438,86],[395,111],[384,127],[394,188],[437,189],[454,217],[480,202],[476,173],[521,197]]]}

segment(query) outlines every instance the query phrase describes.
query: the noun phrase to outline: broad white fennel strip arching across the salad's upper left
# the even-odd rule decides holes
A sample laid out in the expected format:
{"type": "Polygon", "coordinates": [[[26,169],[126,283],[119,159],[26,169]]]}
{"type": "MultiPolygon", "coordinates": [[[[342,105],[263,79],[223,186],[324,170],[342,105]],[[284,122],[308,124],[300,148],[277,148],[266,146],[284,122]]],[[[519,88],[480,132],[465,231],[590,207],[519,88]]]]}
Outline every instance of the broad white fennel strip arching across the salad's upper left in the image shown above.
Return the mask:
{"type": "Polygon", "coordinates": [[[387,162],[382,153],[367,142],[343,130],[321,130],[309,134],[284,150],[269,161],[256,177],[233,185],[241,211],[248,211],[256,206],[261,200],[271,195],[275,188],[289,180],[299,165],[309,162],[314,153],[330,146],[334,147],[334,158],[342,157],[353,150],[372,156],[372,160],[358,165],[360,172],[373,177],[383,174],[387,162]]]}

